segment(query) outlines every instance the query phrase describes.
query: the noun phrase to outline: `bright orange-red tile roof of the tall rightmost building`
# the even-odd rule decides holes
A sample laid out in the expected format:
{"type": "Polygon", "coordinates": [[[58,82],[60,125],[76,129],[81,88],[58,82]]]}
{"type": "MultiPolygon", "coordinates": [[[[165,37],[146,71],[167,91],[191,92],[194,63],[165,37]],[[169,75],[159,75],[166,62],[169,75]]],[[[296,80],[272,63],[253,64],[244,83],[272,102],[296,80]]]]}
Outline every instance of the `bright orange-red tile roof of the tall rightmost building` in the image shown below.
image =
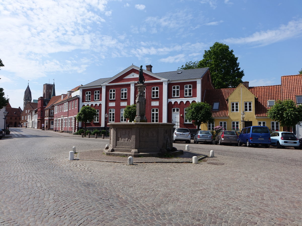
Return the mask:
{"type": "Polygon", "coordinates": [[[302,96],[302,75],[281,76],[282,96],[296,103],[296,96],[302,96]]]}

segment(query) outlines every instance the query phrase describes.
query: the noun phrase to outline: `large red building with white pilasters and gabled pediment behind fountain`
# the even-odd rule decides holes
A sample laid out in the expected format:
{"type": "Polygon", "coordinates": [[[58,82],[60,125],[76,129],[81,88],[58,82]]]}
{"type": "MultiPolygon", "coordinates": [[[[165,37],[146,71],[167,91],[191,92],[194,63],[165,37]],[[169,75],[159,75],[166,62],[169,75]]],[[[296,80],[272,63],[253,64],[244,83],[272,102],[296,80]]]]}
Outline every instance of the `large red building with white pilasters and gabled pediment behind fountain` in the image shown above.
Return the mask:
{"type": "MultiPolygon", "coordinates": [[[[99,113],[87,124],[88,129],[104,128],[111,122],[126,122],[123,112],[127,105],[135,104],[139,69],[131,65],[111,78],[80,87],[80,106],[89,105],[99,113]]],[[[185,120],[185,108],[191,102],[201,102],[206,89],[214,89],[209,68],[153,73],[152,66],[146,65],[143,76],[147,122],[172,122],[175,127],[196,128],[185,120]]]]}

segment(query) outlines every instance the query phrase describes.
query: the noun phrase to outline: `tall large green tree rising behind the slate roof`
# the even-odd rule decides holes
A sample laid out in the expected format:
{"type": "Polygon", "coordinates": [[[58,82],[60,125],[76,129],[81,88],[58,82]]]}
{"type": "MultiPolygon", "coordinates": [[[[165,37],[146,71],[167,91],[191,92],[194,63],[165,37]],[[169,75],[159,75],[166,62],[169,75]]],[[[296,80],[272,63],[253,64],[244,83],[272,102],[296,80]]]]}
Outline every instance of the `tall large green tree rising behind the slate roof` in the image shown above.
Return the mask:
{"type": "Polygon", "coordinates": [[[212,82],[216,89],[235,88],[242,82],[243,70],[240,71],[238,57],[233,54],[233,49],[215,42],[209,50],[204,51],[204,58],[199,61],[198,67],[209,67],[212,82]]]}

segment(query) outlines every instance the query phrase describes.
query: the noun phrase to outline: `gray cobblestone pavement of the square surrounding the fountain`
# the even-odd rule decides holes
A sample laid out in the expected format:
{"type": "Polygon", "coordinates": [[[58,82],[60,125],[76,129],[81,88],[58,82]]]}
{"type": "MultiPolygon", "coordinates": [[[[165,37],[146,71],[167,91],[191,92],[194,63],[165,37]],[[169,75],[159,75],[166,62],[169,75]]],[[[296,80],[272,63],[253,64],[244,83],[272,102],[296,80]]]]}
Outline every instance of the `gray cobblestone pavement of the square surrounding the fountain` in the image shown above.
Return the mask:
{"type": "Polygon", "coordinates": [[[0,225],[302,225],[301,150],[191,144],[215,157],[127,166],[68,161],[72,146],[81,155],[105,139],[11,131],[0,140],[0,225]]]}

